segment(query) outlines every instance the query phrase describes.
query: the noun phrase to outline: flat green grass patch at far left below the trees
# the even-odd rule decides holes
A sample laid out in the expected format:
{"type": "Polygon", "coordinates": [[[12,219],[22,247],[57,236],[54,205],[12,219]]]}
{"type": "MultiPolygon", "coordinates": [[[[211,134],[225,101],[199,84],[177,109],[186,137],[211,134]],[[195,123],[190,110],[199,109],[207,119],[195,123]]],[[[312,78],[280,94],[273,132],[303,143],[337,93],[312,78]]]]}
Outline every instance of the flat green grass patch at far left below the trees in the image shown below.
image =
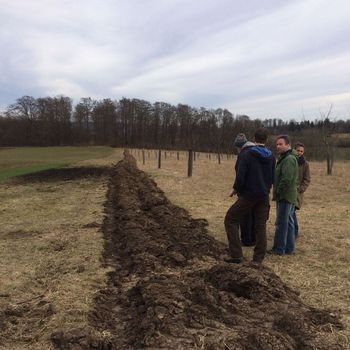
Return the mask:
{"type": "Polygon", "coordinates": [[[112,153],[111,147],[103,146],[0,148],[0,181],[83,160],[104,158],[112,153]]]}

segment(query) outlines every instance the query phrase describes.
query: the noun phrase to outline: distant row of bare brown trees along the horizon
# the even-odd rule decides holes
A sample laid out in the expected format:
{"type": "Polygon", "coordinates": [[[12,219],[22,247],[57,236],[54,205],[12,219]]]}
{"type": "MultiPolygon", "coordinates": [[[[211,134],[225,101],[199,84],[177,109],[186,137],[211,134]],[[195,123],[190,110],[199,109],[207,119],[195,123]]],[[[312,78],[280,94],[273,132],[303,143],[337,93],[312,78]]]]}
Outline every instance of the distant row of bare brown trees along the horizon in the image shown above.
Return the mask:
{"type": "MultiPolygon", "coordinates": [[[[74,106],[66,96],[23,96],[1,115],[0,146],[90,144],[232,152],[237,133],[244,132],[252,138],[254,130],[261,126],[273,135],[291,134],[314,153],[325,145],[325,140],[338,144],[333,142],[332,135],[350,133],[350,120],[334,121],[329,115],[314,121],[262,121],[233,115],[227,109],[152,104],[140,99],[112,101],[87,97],[74,106]]],[[[316,153],[313,155],[317,158],[316,153]]]]}

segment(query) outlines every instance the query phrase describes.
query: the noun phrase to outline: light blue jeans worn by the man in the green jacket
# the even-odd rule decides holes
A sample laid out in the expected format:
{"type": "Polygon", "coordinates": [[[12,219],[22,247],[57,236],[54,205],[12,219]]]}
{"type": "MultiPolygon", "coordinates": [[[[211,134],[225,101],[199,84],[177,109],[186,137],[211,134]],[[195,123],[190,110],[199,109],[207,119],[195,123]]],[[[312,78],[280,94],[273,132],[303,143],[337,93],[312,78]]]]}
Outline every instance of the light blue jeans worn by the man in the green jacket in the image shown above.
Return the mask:
{"type": "Polygon", "coordinates": [[[273,250],[277,254],[293,254],[295,251],[294,213],[294,204],[286,201],[277,202],[276,231],[273,245],[273,250]]]}

